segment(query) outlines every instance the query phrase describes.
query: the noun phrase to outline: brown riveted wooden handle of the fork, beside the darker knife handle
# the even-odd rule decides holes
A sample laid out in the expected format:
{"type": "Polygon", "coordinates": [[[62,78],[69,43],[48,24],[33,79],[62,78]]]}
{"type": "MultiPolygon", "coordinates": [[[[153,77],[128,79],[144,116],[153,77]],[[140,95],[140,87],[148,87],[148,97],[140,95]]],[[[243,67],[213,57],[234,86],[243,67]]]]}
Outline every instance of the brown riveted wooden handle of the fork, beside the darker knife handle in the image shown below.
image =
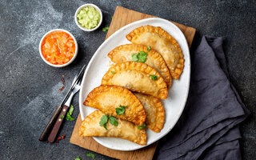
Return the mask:
{"type": "Polygon", "coordinates": [[[68,110],[69,110],[68,106],[64,105],[62,107],[62,112],[58,115],[58,119],[56,120],[56,122],[54,124],[54,128],[50,132],[50,135],[48,137],[48,142],[54,142],[54,140],[58,134],[58,130],[62,126],[62,122],[63,122],[68,110]]]}

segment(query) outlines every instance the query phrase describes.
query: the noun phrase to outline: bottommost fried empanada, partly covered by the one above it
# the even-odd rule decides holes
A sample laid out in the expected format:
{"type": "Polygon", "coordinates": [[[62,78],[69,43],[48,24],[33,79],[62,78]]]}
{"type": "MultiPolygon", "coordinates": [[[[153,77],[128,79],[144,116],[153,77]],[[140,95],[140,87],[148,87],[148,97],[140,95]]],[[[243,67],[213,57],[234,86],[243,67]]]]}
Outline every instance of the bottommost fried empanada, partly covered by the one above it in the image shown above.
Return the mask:
{"type": "Polygon", "coordinates": [[[138,126],[135,126],[134,123],[117,118],[118,126],[110,124],[109,121],[106,123],[106,130],[99,124],[103,115],[104,113],[100,110],[96,110],[88,115],[82,121],[78,135],[82,137],[123,138],[139,145],[146,145],[146,131],[144,129],[139,130],[138,126]]]}

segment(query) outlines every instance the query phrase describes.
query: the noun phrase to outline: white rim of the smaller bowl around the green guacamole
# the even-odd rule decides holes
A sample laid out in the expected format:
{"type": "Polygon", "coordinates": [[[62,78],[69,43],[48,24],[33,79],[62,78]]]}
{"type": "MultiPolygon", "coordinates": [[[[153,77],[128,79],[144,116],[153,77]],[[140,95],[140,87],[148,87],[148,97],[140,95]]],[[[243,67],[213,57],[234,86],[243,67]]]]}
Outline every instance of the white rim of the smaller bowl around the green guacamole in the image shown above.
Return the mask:
{"type": "Polygon", "coordinates": [[[74,22],[75,22],[75,24],[77,24],[77,26],[78,26],[81,30],[84,30],[84,31],[87,31],[87,32],[97,30],[98,27],[101,26],[101,24],[102,24],[102,18],[103,18],[103,16],[102,16],[102,10],[100,10],[100,9],[98,8],[98,6],[96,6],[96,5],[94,5],[94,4],[90,4],[90,3],[85,4],[85,5],[82,5],[82,6],[79,6],[78,10],[77,10],[77,11],[75,12],[75,14],[74,14],[74,22]],[[77,18],[78,12],[79,12],[80,10],[82,10],[82,8],[84,8],[84,7],[86,7],[86,6],[94,7],[95,10],[97,10],[98,13],[99,13],[100,16],[101,16],[101,19],[100,19],[99,22],[98,22],[98,26],[95,26],[93,29],[90,29],[90,30],[86,29],[85,27],[82,27],[82,26],[79,24],[78,18],[77,18]]]}

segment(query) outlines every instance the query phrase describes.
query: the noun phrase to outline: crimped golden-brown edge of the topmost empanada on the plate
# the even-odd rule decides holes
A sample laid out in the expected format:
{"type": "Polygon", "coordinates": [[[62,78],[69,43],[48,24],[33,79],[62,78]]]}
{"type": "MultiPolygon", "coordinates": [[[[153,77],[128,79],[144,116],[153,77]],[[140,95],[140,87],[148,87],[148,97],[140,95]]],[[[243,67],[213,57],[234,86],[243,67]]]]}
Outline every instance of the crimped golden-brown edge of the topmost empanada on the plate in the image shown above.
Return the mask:
{"type": "Polygon", "coordinates": [[[149,25],[147,25],[147,26],[140,26],[140,27],[132,30],[129,34],[126,35],[126,38],[130,42],[132,42],[132,38],[134,37],[134,35],[136,35],[138,33],[142,33],[145,30],[150,30],[150,32],[158,33],[162,37],[166,38],[167,40],[169,40],[170,42],[172,42],[174,44],[174,46],[178,50],[179,60],[178,60],[178,64],[175,67],[175,69],[174,70],[170,70],[170,74],[171,74],[171,76],[174,79],[178,79],[179,76],[182,74],[182,71],[183,71],[183,68],[184,68],[185,59],[183,58],[182,49],[178,45],[178,42],[176,41],[176,39],[173,38],[170,34],[168,34],[166,32],[166,30],[163,30],[160,26],[149,26],[149,25]]]}

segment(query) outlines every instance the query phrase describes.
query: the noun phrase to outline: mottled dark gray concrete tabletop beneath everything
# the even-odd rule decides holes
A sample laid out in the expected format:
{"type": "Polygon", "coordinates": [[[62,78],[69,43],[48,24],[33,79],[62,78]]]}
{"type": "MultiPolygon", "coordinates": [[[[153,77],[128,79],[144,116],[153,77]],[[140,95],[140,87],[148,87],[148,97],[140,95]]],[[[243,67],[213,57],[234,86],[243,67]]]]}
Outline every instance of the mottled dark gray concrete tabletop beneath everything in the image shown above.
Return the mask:
{"type": "MultiPolygon", "coordinates": [[[[0,1],[0,159],[74,159],[86,157],[84,150],[69,143],[74,122],[64,122],[58,144],[39,142],[48,122],[78,70],[102,44],[116,6],[173,20],[197,29],[191,50],[203,34],[225,38],[224,48],[230,80],[251,111],[241,125],[242,157],[255,159],[256,148],[256,2],[255,1],[0,1]],[[99,30],[84,32],[74,23],[74,12],[84,3],[102,9],[104,20],[99,30]],[[79,53],[65,68],[53,68],[42,61],[38,43],[46,31],[62,28],[78,40],[79,53]],[[66,88],[61,78],[65,75],[66,88]]],[[[193,55],[192,55],[193,57],[193,55]]],[[[95,73],[97,74],[97,73],[95,73]]],[[[78,94],[73,101],[78,116],[78,94]]],[[[95,159],[110,159],[101,154],[95,159]]]]}

